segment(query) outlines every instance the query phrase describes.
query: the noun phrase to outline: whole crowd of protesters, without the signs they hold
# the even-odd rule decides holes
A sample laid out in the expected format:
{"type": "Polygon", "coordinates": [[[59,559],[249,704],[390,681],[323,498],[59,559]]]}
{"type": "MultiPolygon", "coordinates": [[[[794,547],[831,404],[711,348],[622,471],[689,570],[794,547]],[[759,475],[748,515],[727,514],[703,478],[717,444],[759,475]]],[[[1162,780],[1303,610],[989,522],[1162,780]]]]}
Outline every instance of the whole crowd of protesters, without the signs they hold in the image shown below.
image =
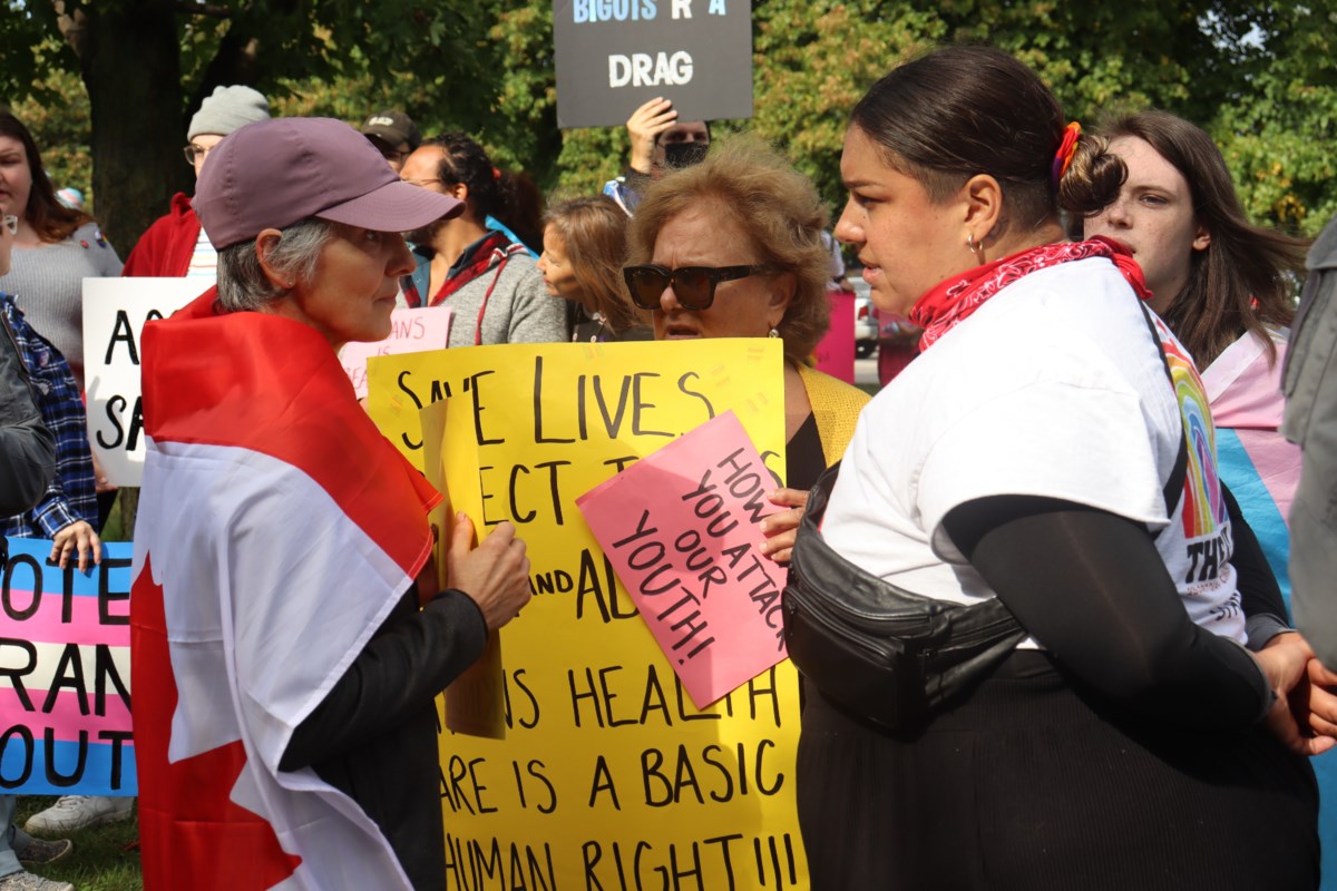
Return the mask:
{"type": "MultiPolygon", "coordinates": [[[[202,291],[142,345],[146,887],[444,887],[432,700],[528,602],[525,542],[501,524],[477,545],[463,514],[431,529],[440,496],[336,357],[396,307],[448,307],[452,349],[782,342],[787,488],[763,530],[793,566],[813,887],[1317,888],[1337,230],[1310,248],[1251,224],[1189,122],[1083,131],[1005,53],[932,51],[845,136],[834,238],[893,331],[869,401],[813,367],[846,285],[813,184],[666,99],[626,126],[623,175],[544,214],[467,134],[424,138],[396,110],[274,119],[218,87],[186,134],[195,194],[122,266],[0,112],[7,536],[102,560],[115,490],[86,433],[83,279],[202,291]],[[1210,572],[1191,556],[1209,537],[1227,556],[1210,572]],[[281,580],[305,594],[275,598],[281,580]],[[901,624],[832,620],[860,598],[901,624]],[[869,635],[900,656],[868,657],[869,635]],[[226,763],[193,767],[218,740],[226,763]]],[[[0,797],[0,891],[71,888],[27,867],[132,810],[64,796],[24,832],[0,797]]]]}

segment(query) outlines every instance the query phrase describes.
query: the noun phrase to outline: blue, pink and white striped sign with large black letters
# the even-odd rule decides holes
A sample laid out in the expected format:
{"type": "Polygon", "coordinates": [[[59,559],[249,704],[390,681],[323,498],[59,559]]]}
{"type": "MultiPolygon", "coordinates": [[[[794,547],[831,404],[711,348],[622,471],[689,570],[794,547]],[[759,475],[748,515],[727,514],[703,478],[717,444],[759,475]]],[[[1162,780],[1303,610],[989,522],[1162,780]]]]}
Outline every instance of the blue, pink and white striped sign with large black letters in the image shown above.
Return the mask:
{"type": "Polygon", "coordinates": [[[0,792],[134,795],[128,542],[82,574],[7,538],[0,589],[0,792]]]}

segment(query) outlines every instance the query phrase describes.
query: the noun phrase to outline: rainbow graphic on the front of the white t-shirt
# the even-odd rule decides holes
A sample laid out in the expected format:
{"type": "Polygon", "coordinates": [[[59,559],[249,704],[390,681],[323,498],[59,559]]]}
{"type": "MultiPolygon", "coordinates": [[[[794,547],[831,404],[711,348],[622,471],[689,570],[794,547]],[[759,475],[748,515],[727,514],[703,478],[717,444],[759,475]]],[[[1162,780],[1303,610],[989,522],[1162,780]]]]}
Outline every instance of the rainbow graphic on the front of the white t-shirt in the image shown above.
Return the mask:
{"type": "Polygon", "coordinates": [[[1217,429],[1211,422],[1207,389],[1198,377],[1183,345],[1175,339],[1161,319],[1155,319],[1161,345],[1174,381],[1175,401],[1183,417],[1183,430],[1189,443],[1189,468],[1183,478],[1183,537],[1194,541],[1217,534],[1229,525],[1226,502],[1221,494],[1217,474],[1217,429]]]}

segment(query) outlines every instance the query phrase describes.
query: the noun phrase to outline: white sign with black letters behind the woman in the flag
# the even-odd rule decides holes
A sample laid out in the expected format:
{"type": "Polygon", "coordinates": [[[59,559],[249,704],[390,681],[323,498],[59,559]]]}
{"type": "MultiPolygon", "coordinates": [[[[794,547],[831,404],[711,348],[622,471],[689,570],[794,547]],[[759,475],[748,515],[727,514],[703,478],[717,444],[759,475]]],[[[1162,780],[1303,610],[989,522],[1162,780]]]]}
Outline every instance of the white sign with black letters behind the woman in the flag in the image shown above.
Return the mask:
{"type": "Polygon", "coordinates": [[[139,335],[203,294],[201,278],[86,278],[84,390],[88,442],[107,480],[138,486],[144,470],[139,335]]]}

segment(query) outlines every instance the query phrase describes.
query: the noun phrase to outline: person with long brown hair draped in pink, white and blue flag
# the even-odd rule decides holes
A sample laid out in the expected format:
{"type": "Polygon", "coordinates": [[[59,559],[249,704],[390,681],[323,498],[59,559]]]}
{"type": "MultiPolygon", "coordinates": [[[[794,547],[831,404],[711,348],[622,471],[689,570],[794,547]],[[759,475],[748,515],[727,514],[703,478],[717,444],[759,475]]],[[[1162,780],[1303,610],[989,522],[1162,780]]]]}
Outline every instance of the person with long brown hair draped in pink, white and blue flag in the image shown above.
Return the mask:
{"type": "MultiPolygon", "coordinates": [[[[1289,604],[1288,517],[1301,454],[1281,434],[1281,378],[1306,243],[1249,220],[1225,158],[1201,127],[1143,111],[1111,120],[1100,135],[1128,178],[1116,202],[1084,220],[1086,232],[1128,247],[1147,278],[1151,306],[1202,369],[1221,480],[1238,498],[1289,604]]],[[[1320,832],[1333,838],[1337,763],[1318,760],[1314,772],[1320,832]]],[[[1330,875],[1337,851],[1324,854],[1330,875]]]]}

